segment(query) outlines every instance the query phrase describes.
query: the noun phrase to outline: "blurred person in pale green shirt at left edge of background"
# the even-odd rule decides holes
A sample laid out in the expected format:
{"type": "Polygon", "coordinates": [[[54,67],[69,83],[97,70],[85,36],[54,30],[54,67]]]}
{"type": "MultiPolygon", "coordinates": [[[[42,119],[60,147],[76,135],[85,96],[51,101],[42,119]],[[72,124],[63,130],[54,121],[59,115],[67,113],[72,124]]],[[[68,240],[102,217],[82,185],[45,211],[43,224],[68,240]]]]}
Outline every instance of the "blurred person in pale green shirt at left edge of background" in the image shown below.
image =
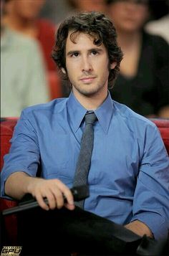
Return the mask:
{"type": "Polygon", "coordinates": [[[45,72],[37,42],[1,22],[1,117],[18,117],[23,108],[49,100],[45,72]]]}

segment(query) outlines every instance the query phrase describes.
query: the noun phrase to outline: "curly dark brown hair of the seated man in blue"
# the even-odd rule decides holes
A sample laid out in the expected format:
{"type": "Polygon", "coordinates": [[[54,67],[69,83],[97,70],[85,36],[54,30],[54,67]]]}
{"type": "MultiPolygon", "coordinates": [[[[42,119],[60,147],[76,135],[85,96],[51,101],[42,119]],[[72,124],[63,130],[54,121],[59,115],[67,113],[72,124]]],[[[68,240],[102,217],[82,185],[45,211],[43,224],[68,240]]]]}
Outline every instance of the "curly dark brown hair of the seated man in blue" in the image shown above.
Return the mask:
{"type": "MultiPolygon", "coordinates": [[[[123,54],[117,45],[117,33],[110,19],[105,14],[91,11],[68,17],[60,24],[57,30],[56,42],[52,50],[52,58],[56,62],[57,67],[59,69],[64,68],[66,72],[65,49],[69,31],[72,31],[70,35],[72,42],[74,42],[72,35],[76,32],[82,32],[90,34],[93,37],[93,43],[95,45],[105,45],[109,57],[109,69],[112,62],[117,62],[115,69],[110,69],[108,78],[109,87],[112,87],[120,71],[120,62],[123,54]],[[110,82],[112,85],[110,85],[110,82]]],[[[69,79],[67,74],[64,75],[64,79],[69,79]]]]}

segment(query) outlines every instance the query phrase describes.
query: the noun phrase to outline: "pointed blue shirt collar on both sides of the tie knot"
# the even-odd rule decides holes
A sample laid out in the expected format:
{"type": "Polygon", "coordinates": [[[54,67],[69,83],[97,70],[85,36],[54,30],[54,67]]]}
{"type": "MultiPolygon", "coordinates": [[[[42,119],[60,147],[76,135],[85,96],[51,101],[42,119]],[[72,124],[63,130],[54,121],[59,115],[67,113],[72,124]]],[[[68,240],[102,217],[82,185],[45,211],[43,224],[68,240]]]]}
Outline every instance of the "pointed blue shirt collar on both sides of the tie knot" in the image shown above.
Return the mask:
{"type": "MultiPolygon", "coordinates": [[[[67,111],[69,113],[72,129],[74,132],[76,132],[80,124],[82,123],[84,115],[87,113],[87,109],[79,103],[79,101],[74,97],[73,93],[70,93],[69,98],[67,100],[67,111]],[[71,120],[74,121],[72,122],[71,120]]],[[[102,105],[100,105],[99,108],[97,108],[97,110],[94,111],[105,133],[108,132],[113,111],[113,101],[110,96],[110,93],[108,92],[105,101],[102,103],[102,105]]]]}

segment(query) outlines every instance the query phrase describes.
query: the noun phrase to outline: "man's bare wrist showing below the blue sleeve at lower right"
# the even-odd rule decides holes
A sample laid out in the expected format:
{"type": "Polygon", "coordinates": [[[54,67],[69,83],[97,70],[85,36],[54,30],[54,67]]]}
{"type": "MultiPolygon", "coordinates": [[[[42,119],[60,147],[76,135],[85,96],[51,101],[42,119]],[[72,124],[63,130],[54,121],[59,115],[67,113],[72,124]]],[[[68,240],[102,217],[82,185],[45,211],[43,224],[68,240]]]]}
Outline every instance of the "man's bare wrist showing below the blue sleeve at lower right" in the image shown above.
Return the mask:
{"type": "Polygon", "coordinates": [[[130,222],[129,224],[125,225],[125,227],[127,229],[130,229],[135,234],[140,235],[140,237],[143,237],[143,235],[146,234],[148,237],[153,238],[153,234],[150,231],[149,227],[143,222],[140,222],[139,220],[130,222]]]}

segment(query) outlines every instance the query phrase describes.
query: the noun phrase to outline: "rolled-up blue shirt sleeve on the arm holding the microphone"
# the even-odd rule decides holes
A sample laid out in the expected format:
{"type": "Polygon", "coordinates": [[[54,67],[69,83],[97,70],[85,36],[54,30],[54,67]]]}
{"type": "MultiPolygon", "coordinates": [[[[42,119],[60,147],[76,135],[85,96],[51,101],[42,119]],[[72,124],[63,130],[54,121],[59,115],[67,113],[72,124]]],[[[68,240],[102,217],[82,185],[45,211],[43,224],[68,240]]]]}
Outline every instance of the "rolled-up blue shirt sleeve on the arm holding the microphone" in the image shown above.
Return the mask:
{"type": "Polygon", "coordinates": [[[6,179],[16,171],[24,171],[29,176],[36,176],[40,164],[40,153],[37,133],[33,120],[26,118],[24,111],[14,128],[11,148],[4,156],[4,167],[1,171],[1,196],[11,199],[4,192],[6,179]]]}

